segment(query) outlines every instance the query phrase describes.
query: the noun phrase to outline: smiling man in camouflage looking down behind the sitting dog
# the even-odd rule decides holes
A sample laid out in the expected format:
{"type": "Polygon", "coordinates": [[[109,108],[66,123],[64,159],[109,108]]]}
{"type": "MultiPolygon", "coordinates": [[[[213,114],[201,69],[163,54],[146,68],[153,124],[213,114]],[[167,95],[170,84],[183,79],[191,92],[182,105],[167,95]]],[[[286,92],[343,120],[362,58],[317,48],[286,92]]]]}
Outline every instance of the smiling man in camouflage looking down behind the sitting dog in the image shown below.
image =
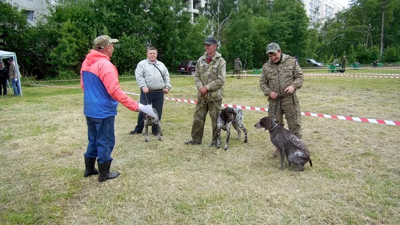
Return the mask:
{"type": "MultiPolygon", "coordinates": [[[[296,90],[303,85],[303,72],[295,58],[282,54],[278,44],[268,44],[267,54],[270,60],[262,65],[260,88],[268,97],[268,115],[274,117],[278,99],[275,120],[283,127],[285,115],[289,131],[301,139],[301,111],[296,90]]],[[[277,155],[278,149],[270,157],[275,158],[277,155]]]]}

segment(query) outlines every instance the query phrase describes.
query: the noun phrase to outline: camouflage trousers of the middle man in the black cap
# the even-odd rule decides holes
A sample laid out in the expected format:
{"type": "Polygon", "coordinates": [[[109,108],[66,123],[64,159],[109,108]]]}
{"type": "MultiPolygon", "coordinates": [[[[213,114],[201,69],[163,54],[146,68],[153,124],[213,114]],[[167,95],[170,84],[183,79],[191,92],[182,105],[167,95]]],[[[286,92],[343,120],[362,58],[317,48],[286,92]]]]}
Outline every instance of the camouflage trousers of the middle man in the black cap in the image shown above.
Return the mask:
{"type": "Polygon", "coordinates": [[[217,118],[220,114],[222,100],[201,102],[197,101],[196,108],[194,109],[193,125],[192,125],[192,140],[201,143],[203,140],[204,123],[206,123],[207,112],[210,113],[212,125],[212,142],[217,141],[217,118]]]}

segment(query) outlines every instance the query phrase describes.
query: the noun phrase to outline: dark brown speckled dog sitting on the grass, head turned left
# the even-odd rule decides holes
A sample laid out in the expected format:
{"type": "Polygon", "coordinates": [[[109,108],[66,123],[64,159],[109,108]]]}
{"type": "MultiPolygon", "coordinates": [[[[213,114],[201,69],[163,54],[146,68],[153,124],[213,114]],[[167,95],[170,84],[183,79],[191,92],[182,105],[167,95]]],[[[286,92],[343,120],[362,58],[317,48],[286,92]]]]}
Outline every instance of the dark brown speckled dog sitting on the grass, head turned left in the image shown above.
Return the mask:
{"type": "Polygon", "coordinates": [[[257,129],[265,128],[270,132],[270,139],[272,144],[275,145],[280,151],[280,170],[283,170],[285,165],[285,155],[288,160],[289,166],[291,163],[296,165],[297,169],[293,171],[303,171],[304,164],[307,162],[312,166],[310,153],[306,145],[290,131],[279,126],[274,120],[269,117],[264,117],[260,122],[254,125],[257,129]]]}

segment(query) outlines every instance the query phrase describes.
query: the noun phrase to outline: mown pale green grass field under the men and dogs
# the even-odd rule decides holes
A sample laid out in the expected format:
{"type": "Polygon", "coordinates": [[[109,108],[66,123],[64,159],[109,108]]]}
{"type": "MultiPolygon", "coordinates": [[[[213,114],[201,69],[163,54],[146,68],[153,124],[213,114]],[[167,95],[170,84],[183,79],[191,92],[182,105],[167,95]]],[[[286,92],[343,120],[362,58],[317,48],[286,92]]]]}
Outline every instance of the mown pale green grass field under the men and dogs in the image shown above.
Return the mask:
{"type": "MultiPolygon", "coordinates": [[[[171,83],[169,97],[196,100],[191,77],[171,83]]],[[[139,92],[134,80],[121,86],[139,92]]],[[[232,133],[223,151],[208,147],[209,119],[203,144],[183,145],[194,104],[165,100],[164,137],[149,143],[128,134],[137,114],[119,105],[112,169],[121,176],[98,183],[82,176],[82,91],[23,92],[0,97],[0,224],[400,224],[400,127],[302,117],[314,166],[294,173],[278,170],[268,132],[253,127],[265,112],[244,110],[249,142],[232,133]]],[[[307,76],[298,98],[303,112],[400,119],[398,79],[307,76]]],[[[268,106],[258,77],[227,76],[223,103],[268,106]]]]}

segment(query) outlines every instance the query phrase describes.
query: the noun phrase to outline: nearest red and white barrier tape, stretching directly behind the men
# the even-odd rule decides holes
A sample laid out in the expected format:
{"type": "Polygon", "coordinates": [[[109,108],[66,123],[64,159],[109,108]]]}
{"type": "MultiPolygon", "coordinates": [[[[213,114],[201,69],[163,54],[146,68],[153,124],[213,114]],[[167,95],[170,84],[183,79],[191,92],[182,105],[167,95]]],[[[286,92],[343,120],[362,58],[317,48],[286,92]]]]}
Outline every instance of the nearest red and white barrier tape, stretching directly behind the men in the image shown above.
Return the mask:
{"type": "MultiPolygon", "coordinates": [[[[26,83],[26,82],[22,82],[22,83],[23,84],[30,84],[30,83],[26,83]]],[[[79,88],[80,89],[80,87],[70,87],[70,86],[54,86],[54,85],[43,85],[43,84],[30,84],[30,85],[58,87],[58,88],[79,88]]],[[[140,96],[140,94],[137,94],[137,93],[127,92],[127,91],[124,91],[124,92],[126,94],[140,96]]],[[[195,100],[186,100],[186,99],[168,98],[168,97],[165,97],[164,99],[172,100],[172,101],[176,101],[176,102],[186,102],[186,103],[197,104],[197,101],[195,101],[195,100]]],[[[222,106],[231,107],[231,108],[242,108],[242,109],[247,109],[247,110],[256,110],[256,111],[268,112],[268,108],[262,108],[262,107],[240,106],[240,105],[234,105],[234,104],[222,104],[222,106]]],[[[340,120],[347,120],[347,121],[358,121],[358,122],[364,122],[364,123],[379,123],[379,124],[400,126],[400,121],[388,121],[388,120],[380,120],[380,119],[367,119],[367,118],[364,118],[364,117],[345,117],[345,116],[327,115],[327,114],[312,113],[312,112],[301,112],[301,115],[303,115],[303,116],[311,116],[311,117],[324,117],[324,118],[330,118],[330,119],[340,119],[340,120]]]]}

